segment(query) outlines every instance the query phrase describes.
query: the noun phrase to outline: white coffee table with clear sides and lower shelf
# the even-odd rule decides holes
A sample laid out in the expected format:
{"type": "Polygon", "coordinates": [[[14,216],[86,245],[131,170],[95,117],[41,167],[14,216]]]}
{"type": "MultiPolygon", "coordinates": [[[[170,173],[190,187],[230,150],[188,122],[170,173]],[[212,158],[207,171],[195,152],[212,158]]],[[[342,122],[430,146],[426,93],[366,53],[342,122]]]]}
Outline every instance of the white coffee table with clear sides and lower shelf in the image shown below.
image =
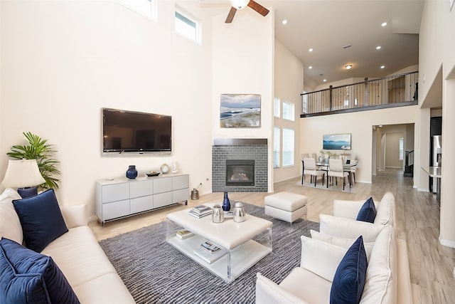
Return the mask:
{"type": "Polygon", "coordinates": [[[167,215],[166,241],[226,283],[234,281],[272,252],[271,221],[247,214],[242,223],[228,218],[223,223],[215,224],[212,216],[198,219],[188,214],[188,210],[167,215]],[[193,236],[179,239],[176,233],[183,229],[191,231],[193,236]],[[201,255],[201,245],[206,242],[220,248],[220,251],[206,254],[202,248],[204,254],[201,255]]]}

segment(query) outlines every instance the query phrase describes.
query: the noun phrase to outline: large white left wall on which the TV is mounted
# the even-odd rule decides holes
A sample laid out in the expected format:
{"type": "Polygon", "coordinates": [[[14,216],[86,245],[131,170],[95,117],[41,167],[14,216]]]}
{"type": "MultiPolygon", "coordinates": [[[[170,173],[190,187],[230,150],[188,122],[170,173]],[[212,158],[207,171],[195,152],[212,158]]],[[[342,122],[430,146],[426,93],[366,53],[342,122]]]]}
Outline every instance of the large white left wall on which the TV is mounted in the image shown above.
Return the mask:
{"type": "Polygon", "coordinates": [[[11,145],[31,131],[55,144],[60,204],[90,204],[95,180],[178,162],[190,187],[210,192],[211,18],[202,45],[173,33],[174,1],[159,1],[159,22],[115,1],[1,1],[0,175],[11,145]],[[173,116],[171,156],[102,157],[100,109],[173,116]],[[199,161],[195,161],[198,159],[199,161]]]}

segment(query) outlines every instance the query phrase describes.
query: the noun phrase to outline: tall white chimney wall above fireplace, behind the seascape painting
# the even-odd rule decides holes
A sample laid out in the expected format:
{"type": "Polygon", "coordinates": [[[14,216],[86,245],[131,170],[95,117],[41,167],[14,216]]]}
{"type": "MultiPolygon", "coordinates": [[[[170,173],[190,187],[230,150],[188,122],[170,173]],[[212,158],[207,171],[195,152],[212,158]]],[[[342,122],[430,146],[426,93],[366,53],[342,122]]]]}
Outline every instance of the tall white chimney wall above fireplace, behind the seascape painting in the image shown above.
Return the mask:
{"type": "Polygon", "coordinates": [[[221,14],[212,21],[211,145],[216,138],[267,138],[271,192],[274,12],[262,17],[252,9],[244,9],[235,14],[232,23],[225,23],[225,19],[226,14],[221,14]],[[221,128],[221,94],[261,95],[260,127],[221,128]]]}

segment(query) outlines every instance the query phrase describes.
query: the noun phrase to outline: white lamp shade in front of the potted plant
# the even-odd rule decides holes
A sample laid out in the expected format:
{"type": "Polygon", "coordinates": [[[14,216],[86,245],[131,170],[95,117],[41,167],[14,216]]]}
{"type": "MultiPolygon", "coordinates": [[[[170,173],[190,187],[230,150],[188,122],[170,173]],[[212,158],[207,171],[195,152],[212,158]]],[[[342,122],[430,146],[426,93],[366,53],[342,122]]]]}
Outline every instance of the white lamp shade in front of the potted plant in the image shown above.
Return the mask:
{"type": "Polygon", "coordinates": [[[36,159],[9,160],[5,177],[1,184],[5,188],[35,187],[43,184],[36,159]]]}

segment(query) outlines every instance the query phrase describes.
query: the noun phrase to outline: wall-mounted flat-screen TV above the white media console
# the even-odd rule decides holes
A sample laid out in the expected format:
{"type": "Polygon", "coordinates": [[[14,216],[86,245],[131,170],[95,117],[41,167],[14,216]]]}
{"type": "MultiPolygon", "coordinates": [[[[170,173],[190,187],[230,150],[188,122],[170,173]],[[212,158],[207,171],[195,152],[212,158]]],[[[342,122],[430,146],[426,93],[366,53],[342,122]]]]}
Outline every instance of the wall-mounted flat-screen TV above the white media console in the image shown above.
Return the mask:
{"type": "Polygon", "coordinates": [[[170,154],[172,117],[102,109],[103,153],[170,154]]]}

